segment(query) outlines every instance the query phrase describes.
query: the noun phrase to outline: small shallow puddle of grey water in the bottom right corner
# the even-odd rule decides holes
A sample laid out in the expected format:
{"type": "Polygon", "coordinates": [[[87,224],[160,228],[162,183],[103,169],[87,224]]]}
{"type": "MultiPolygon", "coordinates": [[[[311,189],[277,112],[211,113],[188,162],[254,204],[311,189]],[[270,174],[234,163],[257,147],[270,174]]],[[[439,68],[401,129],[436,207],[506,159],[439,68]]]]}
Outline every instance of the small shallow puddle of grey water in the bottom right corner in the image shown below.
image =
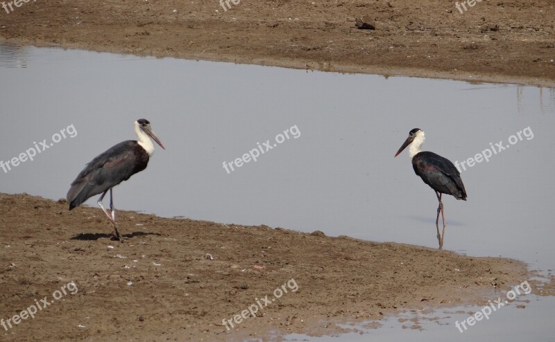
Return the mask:
{"type": "MultiPolygon", "coordinates": [[[[494,298],[492,298],[494,299],[494,298]]],[[[514,303],[516,304],[516,303],[514,303]]],[[[412,311],[384,318],[366,325],[343,325],[353,332],[339,336],[314,338],[290,334],[287,341],[553,341],[553,312],[555,298],[533,296],[524,309],[515,305],[503,307],[472,326],[460,324],[481,307],[461,307],[458,310],[412,311]],[[529,317],[533,314],[533,318],[529,317]],[[459,322],[460,330],[455,323],[459,322]]]]}

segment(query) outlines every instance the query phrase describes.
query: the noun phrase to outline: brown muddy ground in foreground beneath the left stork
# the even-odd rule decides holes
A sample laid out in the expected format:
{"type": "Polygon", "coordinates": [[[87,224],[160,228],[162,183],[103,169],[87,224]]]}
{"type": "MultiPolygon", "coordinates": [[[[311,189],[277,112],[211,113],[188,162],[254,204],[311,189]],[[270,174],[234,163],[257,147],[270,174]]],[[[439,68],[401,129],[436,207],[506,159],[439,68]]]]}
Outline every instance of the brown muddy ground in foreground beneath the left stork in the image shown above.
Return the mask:
{"type": "Polygon", "coordinates": [[[0,194],[0,318],[23,317],[35,303],[44,306],[43,298],[51,303],[34,318],[0,325],[1,341],[332,334],[342,331],[337,322],[477,303],[531,279],[524,264],[509,259],[118,213],[123,242],[110,240],[99,208],[69,212],[65,200],[0,194]],[[222,320],[249,308],[256,317],[239,316],[228,331],[222,320]]]}

